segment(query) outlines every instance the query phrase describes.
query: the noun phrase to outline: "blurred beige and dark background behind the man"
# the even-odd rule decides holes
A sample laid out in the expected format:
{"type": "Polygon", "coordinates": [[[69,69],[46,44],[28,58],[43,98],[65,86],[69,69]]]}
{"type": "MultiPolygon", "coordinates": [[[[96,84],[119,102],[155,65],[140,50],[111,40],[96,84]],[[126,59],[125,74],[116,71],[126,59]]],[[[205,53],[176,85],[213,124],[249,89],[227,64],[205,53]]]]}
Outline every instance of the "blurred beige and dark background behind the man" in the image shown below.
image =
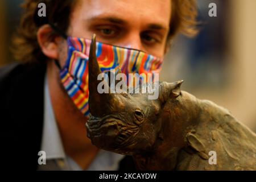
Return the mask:
{"type": "MultiPolygon", "coordinates": [[[[0,1],[0,66],[14,61],[11,36],[22,0],[0,1]]],[[[178,36],[164,61],[160,80],[184,80],[197,98],[226,107],[256,131],[256,0],[198,0],[200,34],[178,36]],[[217,17],[209,17],[209,3],[217,17]]]]}

